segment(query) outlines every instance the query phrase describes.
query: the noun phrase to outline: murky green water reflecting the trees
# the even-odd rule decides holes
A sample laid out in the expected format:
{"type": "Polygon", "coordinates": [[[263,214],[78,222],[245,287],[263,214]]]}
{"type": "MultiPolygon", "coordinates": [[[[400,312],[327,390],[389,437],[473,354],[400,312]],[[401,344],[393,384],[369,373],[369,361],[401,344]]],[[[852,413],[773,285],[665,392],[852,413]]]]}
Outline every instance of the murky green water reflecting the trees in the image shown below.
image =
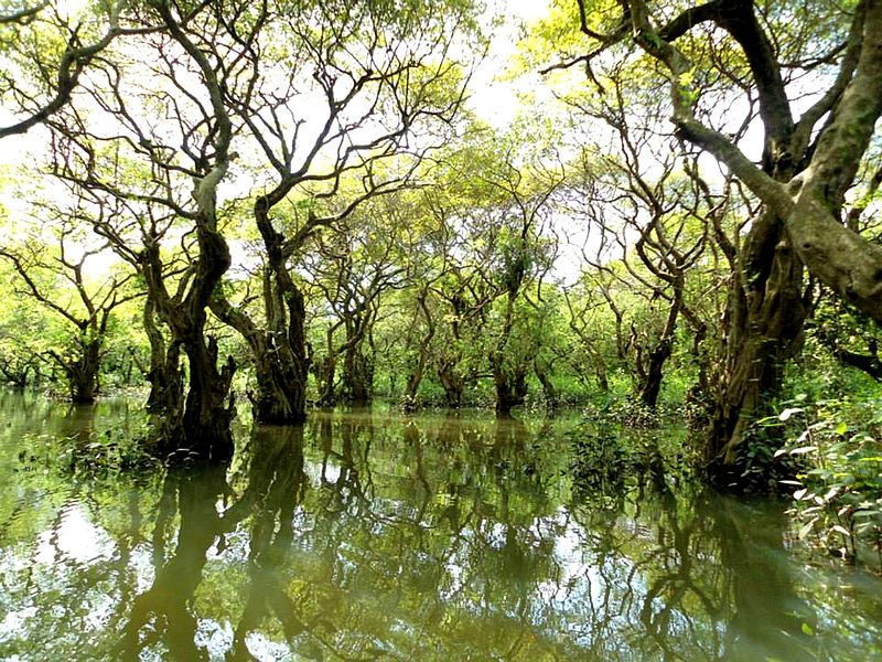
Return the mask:
{"type": "Polygon", "coordinates": [[[232,466],[23,462],[125,403],[0,395],[2,660],[880,660],[882,581],[800,563],[781,506],[573,493],[562,424],[315,414],[232,466]]]}

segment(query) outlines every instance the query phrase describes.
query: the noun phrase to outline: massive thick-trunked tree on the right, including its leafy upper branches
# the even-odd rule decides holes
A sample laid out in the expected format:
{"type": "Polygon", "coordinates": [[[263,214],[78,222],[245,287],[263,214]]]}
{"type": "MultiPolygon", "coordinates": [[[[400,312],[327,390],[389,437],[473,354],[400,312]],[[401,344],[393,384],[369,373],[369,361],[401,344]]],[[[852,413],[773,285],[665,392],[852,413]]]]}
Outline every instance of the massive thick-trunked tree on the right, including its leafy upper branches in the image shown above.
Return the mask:
{"type": "MultiPolygon", "coordinates": [[[[617,8],[579,0],[577,24],[588,46],[570,40],[566,46],[581,52],[570,50],[555,65],[584,65],[603,92],[594,70],[621,58],[634,62],[636,45],[669,83],[676,135],[718,159],[764,204],[740,243],[730,289],[724,389],[707,452],[723,474],[739,462],[745,430],[779,387],[783,363],[798,350],[804,265],[882,320],[882,247],[843,223],[847,193],[882,113],[882,2],[809,2],[798,14],[802,29],[793,30],[796,7],[712,0],[663,10],[643,0],[617,8]],[[795,100],[807,81],[820,92],[796,119],[795,100]],[[716,86],[723,83],[719,93],[716,86]],[[714,127],[725,119],[720,104],[734,99],[747,113],[742,127],[714,127]],[[764,131],[759,163],[739,145],[754,117],[764,131]]],[[[650,74],[634,79],[644,90],[657,83],[650,74]]]]}

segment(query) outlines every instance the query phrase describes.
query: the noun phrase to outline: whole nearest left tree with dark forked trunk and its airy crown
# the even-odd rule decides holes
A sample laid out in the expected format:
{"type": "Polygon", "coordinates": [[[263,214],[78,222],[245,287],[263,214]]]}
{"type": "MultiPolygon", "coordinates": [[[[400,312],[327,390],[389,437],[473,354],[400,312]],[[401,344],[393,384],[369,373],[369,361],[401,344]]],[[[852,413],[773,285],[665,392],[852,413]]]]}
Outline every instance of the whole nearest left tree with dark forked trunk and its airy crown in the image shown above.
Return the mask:
{"type": "MultiPolygon", "coordinates": [[[[155,67],[136,67],[128,62],[131,51],[115,52],[114,60],[101,61],[103,77],[82,85],[92,105],[46,120],[55,136],[54,173],[92,196],[94,228],[137,266],[148,310],[169,330],[168,344],[153,344],[154,353],[164,353],[163,370],[151,375],[160,395],[153,403],[154,445],[164,456],[233,451],[229,388],[236,365],[232,359],[218,365],[217,343],[205,325],[208,300],[230,264],[218,210],[218,186],[236,158],[224,90],[240,73],[235,53],[248,49],[250,28],[250,17],[235,8],[215,3],[189,11],[168,1],[148,3],[139,19],[163,31],[142,35],[137,46],[154,53],[155,67]],[[237,17],[246,35],[227,43],[230,51],[216,42],[228,15],[237,17]],[[172,237],[192,237],[193,245],[192,260],[174,282],[160,244],[172,237]],[[182,354],[189,364],[185,392],[182,354]]],[[[130,40],[128,47],[135,45],[130,40]]],[[[148,333],[151,343],[160,340],[149,324],[148,333]]]]}

